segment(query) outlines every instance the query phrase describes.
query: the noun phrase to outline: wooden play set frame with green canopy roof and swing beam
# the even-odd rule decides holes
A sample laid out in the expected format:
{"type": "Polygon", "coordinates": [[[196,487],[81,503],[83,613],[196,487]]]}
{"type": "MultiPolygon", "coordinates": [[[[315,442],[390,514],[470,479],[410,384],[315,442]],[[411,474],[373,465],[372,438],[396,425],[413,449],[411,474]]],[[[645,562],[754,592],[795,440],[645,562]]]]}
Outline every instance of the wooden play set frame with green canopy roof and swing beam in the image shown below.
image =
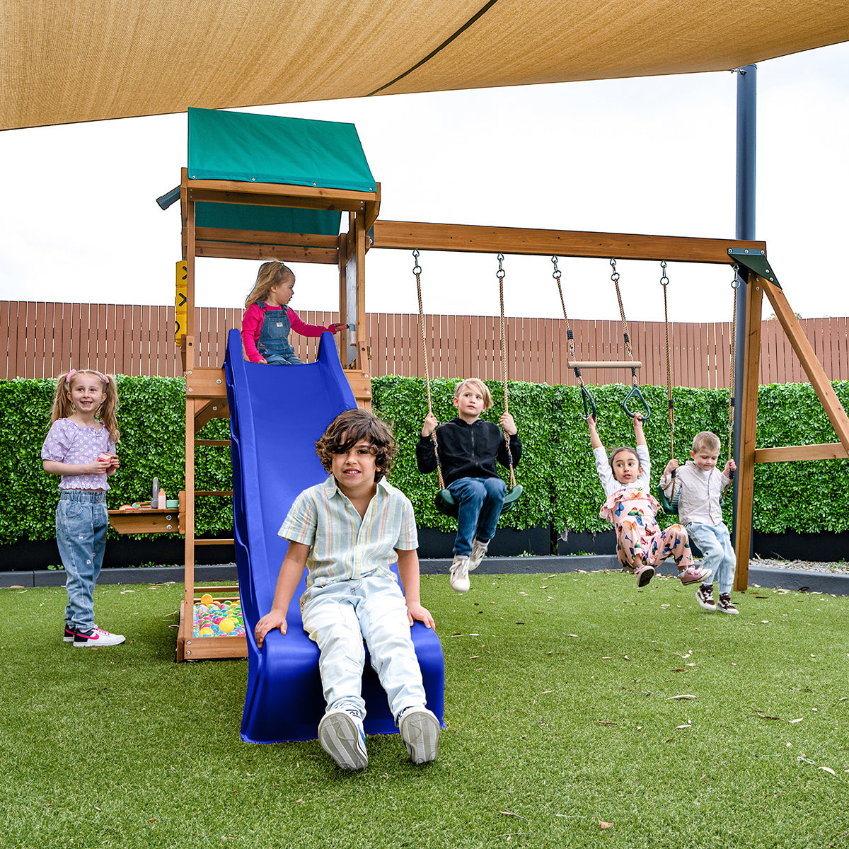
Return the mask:
{"type": "MultiPolygon", "coordinates": [[[[706,262],[726,265],[729,271],[737,267],[747,291],[745,351],[738,352],[744,363],[743,393],[736,413],[741,434],[734,516],[734,588],[738,590],[748,585],[755,464],[849,457],[849,417],[784,297],[763,242],[380,221],[380,184],[374,183],[368,170],[356,130],[347,124],[189,110],[188,162],[188,168],[183,168],[179,194],[185,326],[179,329],[177,340],[186,376],[186,488],[180,493],[178,511],[145,510],[120,515],[110,512],[110,520],[122,533],[185,535],[185,593],[177,661],[247,655],[244,636],[210,638],[193,633],[194,604],[201,594],[237,599],[239,593],[238,587],[194,586],[195,546],[233,543],[198,539],[194,535],[195,498],[231,494],[194,489],[195,451],[229,444],[195,438],[211,419],[229,416],[223,369],[196,366],[194,304],[198,256],[335,265],[339,269],[339,320],[349,326],[347,338],[340,343],[340,357],[361,406],[370,402],[368,339],[363,335],[368,250],[706,262]],[[346,232],[340,233],[342,212],[347,213],[348,221],[346,232]],[[839,442],[756,448],[763,295],[772,304],[839,442]]],[[[178,278],[181,276],[178,274],[178,278]]],[[[178,279],[178,291],[182,282],[178,279]]],[[[568,348],[564,340],[564,356],[568,348]]],[[[638,363],[603,363],[599,357],[594,363],[570,363],[570,368],[581,365],[631,368],[638,363]]]]}

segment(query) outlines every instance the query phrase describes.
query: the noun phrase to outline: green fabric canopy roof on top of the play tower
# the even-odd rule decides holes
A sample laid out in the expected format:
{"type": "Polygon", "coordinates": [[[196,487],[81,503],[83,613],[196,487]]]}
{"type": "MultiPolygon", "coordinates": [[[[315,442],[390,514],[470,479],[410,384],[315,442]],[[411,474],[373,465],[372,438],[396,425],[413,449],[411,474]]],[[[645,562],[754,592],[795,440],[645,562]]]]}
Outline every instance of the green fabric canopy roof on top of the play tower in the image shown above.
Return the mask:
{"type": "MultiPolygon", "coordinates": [[[[284,183],[374,192],[353,124],[246,112],[188,110],[189,180],[284,183]]],[[[199,227],[339,233],[339,211],[199,203],[199,227]]]]}

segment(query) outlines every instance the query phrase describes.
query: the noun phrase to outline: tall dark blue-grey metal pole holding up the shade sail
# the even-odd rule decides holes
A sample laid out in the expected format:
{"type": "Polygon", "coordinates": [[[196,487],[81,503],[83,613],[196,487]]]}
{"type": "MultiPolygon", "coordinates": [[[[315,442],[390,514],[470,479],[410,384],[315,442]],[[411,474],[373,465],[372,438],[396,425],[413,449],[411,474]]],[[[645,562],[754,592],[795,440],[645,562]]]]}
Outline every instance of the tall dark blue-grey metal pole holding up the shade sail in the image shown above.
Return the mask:
{"type": "MultiPolygon", "coordinates": [[[[757,65],[745,65],[737,74],[737,219],[734,236],[737,239],[755,238],[755,174],[757,151],[757,65]]],[[[739,353],[745,352],[746,306],[749,292],[746,273],[740,275],[737,312],[734,316],[734,344],[739,353]]],[[[741,442],[740,410],[743,401],[743,372],[745,356],[734,363],[734,462],[739,465],[741,442]]],[[[739,475],[734,477],[734,515],[737,514],[739,475]]],[[[736,531],[736,528],[734,529],[736,531]]],[[[752,535],[754,539],[754,535],[752,535]]],[[[751,551],[750,551],[751,554],[751,551]]]]}

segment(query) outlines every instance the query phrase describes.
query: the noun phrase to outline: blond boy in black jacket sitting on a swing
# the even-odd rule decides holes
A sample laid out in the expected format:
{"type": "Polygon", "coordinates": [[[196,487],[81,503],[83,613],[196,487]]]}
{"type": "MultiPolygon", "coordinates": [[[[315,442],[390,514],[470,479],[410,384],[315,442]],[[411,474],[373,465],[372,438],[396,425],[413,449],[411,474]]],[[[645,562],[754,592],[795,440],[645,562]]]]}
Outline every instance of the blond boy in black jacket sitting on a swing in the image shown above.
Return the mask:
{"type": "Polygon", "coordinates": [[[481,413],[492,407],[492,395],[481,380],[469,378],[458,383],[454,387],[454,406],[457,418],[439,427],[436,416],[428,413],[422,438],[416,444],[416,462],[420,472],[436,469],[430,437],[436,430],[442,477],[458,503],[451,586],[458,593],[465,593],[469,589],[469,571],[481,565],[495,534],[507,492],[495,461],[508,466],[512,456],[515,466],[522,456],[522,443],[510,413],[501,417],[504,433],[509,435],[509,454],[498,425],[480,420],[481,413]]]}

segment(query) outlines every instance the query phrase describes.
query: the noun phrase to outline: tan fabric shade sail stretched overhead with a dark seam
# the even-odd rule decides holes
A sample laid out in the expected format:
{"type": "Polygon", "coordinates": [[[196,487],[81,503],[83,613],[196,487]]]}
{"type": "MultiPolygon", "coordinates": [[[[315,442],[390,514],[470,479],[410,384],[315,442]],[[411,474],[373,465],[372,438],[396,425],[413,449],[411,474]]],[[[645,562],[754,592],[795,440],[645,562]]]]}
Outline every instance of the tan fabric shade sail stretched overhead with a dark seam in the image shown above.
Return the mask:
{"type": "Polygon", "coordinates": [[[731,70],[849,40],[849,0],[0,0],[3,129],[731,70]]]}

